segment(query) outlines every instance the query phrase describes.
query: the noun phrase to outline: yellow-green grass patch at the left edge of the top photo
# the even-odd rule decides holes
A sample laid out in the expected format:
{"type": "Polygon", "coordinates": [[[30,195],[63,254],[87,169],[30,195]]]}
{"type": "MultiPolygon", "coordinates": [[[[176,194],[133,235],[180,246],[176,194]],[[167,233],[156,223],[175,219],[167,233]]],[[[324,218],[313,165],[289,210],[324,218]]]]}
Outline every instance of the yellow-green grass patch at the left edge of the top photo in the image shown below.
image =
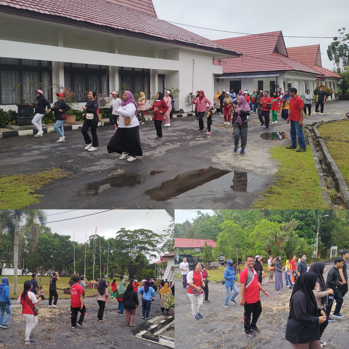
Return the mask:
{"type": "Polygon", "coordinates": [[[62,174],[61,169],[52,168],[30,176],[26,174],[13,174],[12,176],[0,176],[0,208],[21,209],[39,203],[43,195],[34,194],[35,189],[53,180],[68,177],[62,174]]]}

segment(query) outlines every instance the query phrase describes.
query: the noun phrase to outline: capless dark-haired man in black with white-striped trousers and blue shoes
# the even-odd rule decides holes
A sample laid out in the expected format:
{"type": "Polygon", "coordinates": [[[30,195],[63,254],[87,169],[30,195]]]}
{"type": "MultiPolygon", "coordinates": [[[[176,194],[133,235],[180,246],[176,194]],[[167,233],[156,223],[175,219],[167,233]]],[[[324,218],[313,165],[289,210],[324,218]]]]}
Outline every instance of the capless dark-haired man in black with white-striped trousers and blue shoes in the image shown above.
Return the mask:
{"type": "Polygon", "coordinates": [[[343,265],[344,259],[342,257],[337,257],[334,260],[334,267],[332,267],[327,274],[326,288],[331,288],[333,290],[333,295],[327,296],[326,315],[328,317],[328,322],[334,321],[332,318],[329,317],[332,310],[333,298],[336,300],[337,304],[332,316],[335,318],[344,318],[344,316],[340,313],[343,304],[343,298],[340,292],[337,290],[337,285],[342,284],[341,281],[338,281],[338,269],[343,268],[343,265]]]}

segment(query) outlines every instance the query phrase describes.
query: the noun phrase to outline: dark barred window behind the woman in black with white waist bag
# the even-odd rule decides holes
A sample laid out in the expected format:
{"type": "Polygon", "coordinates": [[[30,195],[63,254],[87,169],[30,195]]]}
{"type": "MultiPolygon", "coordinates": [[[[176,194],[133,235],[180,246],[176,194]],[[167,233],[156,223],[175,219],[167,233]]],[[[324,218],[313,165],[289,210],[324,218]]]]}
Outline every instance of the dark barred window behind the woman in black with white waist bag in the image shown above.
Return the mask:
{"type": "Polygon", "coordinates": [[[64,86],[72,89],[76,102],[86,102],[88,91],[109,96],[107,66],[64,62],[64,86]]]}

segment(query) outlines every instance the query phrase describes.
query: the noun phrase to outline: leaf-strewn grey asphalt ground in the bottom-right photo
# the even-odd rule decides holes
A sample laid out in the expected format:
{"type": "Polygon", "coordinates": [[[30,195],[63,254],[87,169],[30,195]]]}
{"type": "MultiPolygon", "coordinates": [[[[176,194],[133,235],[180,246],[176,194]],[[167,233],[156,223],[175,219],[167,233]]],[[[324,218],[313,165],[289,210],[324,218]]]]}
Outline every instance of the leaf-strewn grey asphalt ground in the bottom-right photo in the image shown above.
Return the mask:
{"type": "MultiPolygon", "coordinates": [[[[349,262],[348,262],[349,264],[349,262]]],[[[333,266],[333,260],[326,262],[327,272],[333,266]]],[[[275,276],[275,275],[274,275],[275,276]]],[[[262,285],[269,292],[267,299],[261,294],[262,314],[257,322],[260,333],[255,337],[244,334],[244,311],[239,305],[240,294],[236,297],[237,305],[229,301],[230,307],[224,307],[227,296],[225,287],[220,283],[209,283],[210,303],[204,303],[201,314],[203,318],[194,320],[191,313],[191,303],[187,291],[176,280],[176,349],[291,349],[291,344],[285,340],[285,328],[289,315],[289,301],[292,290],[285,287],[275,291],[274,283],[267,283],[263,278],[262,285]],[[180,328],[177,330],[177,328],[180,328]]],[[[240,289],[240,284],[237,283],[240,289]]],[[[334,310],[334,307],[332,309],[334,310]]],[[[326,327],[321,340],[327,343],[324,348],[342,348],[349,340],[349,296],[344,297],[341,309],[343,319],[336,319],[326,327]]]]}

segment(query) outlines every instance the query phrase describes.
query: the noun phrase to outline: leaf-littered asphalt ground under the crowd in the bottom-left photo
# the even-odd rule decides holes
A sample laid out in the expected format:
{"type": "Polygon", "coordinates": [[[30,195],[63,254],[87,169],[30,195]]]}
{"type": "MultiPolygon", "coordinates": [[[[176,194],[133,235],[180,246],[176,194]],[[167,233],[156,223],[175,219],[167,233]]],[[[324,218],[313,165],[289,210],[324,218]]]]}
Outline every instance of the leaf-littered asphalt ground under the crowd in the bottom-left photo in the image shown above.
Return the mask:
{"type": "MultiPolygon", "coordinates": [[[[135,337],[136,333],[147,329],[151,323],[142,319],[141,306],[136,310],[134,327],[126,326],[125,316],[117,313],[118,302],[108,299],[104,311],[103,322],[97,321],[98,304],[95,297],[84,299],[87,313],[83,328],[71,328],[70,300],[59,299],[58,308],[49,308],[48,301],[40,302],[38,306],[38,324],[32,331],[34,344],[30,348],[62,349],[62,348],[164,348],[163,346],[135,337]]],[[[141,303],[141,302],[140,302],[141,303]]],[[[22,307],[13,301],[12,315],[7,325],[9,328],[0,328],[0,348],[24,348],[25,320],[22,316],[22,307]]],[[[159,297],[154,300],[150,308],[149,318],[161,315],[159,297]]],[[[79,314],[78,314],[79,319],[79,314]]]]}

